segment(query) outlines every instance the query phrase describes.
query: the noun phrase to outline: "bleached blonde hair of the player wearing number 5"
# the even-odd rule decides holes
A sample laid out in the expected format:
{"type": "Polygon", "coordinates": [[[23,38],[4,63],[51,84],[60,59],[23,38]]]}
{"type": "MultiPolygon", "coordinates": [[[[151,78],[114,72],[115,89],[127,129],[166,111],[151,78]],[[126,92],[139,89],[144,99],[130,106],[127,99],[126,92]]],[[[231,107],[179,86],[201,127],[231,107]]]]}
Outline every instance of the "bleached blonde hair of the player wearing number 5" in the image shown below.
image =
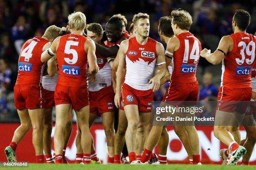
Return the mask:
{"type": "Polygon", "coordinates": [[[84,30],[86,27],[86,17],[81,12],[70,14],[68,20],[73,30],[84,30]]]}

